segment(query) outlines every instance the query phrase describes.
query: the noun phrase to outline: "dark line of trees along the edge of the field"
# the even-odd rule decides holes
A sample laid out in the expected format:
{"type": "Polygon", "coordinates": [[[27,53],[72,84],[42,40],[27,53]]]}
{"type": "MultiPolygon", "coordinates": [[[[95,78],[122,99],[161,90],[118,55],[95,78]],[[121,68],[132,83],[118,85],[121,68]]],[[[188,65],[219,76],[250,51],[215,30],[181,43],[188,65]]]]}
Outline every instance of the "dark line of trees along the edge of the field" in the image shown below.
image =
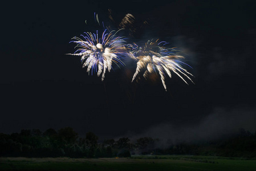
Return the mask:
{"type": "Polygon", "coordinates": [[[161,147],[160,139],[141,137],[131,142],[128,137],[98,142],[93,132],[86,137],[78,136],[71,127],[47,129],[22,129],[20,133],[0,133],[0,156],[2,157],[130,157],[131,154],[192,154],[226,157],[256,157],[256,133],[244,129],[238,135],[225,140],[201,143],[166,142],[161,147]]]}

